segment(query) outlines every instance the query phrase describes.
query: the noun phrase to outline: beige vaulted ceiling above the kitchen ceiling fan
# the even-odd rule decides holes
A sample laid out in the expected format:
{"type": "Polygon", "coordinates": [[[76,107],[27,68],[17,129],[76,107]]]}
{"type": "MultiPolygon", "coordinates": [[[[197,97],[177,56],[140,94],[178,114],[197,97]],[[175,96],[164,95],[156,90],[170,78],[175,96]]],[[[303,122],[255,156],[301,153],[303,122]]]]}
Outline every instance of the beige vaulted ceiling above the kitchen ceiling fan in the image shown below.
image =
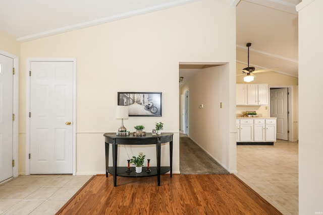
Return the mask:
{"type": "MultiPolygon", "coordinates": [[[[237,62],[298,77],[298,14],[300,0],[242,0],[237,5],[237,62]]],[[[241,68],[242,69],[242,68],[241,68]]]]}

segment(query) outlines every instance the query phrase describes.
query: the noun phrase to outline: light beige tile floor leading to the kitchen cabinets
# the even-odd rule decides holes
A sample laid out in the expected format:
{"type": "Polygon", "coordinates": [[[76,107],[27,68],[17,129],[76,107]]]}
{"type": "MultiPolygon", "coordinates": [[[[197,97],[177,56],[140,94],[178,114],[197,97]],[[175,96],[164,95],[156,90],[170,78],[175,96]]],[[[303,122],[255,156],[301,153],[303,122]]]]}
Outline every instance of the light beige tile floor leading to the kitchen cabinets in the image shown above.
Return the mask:
{"type": "Polygon", "coordinates": [[[284,215],[298,214],[298,142],[237,146],[236,174],[284,215]]]}

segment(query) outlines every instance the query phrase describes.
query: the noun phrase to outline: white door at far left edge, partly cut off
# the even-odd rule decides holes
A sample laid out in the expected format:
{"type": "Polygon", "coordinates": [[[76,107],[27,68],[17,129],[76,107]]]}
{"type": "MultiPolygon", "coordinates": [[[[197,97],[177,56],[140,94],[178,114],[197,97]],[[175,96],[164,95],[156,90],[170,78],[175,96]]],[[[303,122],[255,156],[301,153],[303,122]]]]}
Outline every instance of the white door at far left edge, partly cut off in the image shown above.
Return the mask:
{"type": "Polygon", "coordinates": [[[13,177],[13,59],[0,54],[0,182],[13,177]]]}

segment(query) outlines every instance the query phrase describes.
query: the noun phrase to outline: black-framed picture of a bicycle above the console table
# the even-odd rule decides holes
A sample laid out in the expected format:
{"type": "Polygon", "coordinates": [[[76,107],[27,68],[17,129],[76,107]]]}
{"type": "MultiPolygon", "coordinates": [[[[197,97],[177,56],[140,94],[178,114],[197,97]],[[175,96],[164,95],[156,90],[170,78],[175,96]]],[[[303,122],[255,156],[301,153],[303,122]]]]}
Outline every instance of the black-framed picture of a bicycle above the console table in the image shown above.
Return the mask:
{"type": "Polygon", "coordinates": [[[129,106],[129,116],[161,116],[161,93],[118,92],[118,105],[129,106]]]}

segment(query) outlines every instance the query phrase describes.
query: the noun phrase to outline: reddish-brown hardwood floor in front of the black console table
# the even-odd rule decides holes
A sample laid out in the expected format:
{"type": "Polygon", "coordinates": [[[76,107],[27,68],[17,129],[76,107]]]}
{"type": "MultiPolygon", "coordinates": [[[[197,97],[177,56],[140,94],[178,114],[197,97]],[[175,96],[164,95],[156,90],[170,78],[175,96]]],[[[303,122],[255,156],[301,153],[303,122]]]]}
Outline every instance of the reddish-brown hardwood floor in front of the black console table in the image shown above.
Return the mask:
{"type": "Polygon", "coordinates": [[[56,214],[282,214],[233,174],[93,177],[56,214]]]}

